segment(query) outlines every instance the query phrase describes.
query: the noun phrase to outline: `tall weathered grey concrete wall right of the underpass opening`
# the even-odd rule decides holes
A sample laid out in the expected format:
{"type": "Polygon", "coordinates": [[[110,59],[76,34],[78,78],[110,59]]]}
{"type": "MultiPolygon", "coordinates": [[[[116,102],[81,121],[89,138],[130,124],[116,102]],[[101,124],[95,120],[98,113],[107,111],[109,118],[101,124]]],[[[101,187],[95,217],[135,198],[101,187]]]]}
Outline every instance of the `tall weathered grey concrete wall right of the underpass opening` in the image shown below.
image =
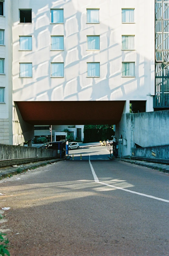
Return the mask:
{"type": "Polygon", "coordinates": [[[120,134],[123,136],[121,149],[123,156],[131,156],[131,149],[137,145],[142,148],[169,145],[169,110],[123,113],[115,129],[117,141],[120,134]]]}

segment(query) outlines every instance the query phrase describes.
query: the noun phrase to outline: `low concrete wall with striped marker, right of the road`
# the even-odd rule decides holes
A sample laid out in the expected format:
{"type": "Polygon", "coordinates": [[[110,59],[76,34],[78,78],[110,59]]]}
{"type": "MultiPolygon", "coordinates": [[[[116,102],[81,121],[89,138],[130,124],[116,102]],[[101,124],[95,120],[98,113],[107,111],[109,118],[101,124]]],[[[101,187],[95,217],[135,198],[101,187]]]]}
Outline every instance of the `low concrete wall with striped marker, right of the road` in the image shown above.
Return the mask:
{"type": "Polygon", "coordinates": [[[132,156],[153,159],[169,159],[169,145],[132,149],[132,156]]]}

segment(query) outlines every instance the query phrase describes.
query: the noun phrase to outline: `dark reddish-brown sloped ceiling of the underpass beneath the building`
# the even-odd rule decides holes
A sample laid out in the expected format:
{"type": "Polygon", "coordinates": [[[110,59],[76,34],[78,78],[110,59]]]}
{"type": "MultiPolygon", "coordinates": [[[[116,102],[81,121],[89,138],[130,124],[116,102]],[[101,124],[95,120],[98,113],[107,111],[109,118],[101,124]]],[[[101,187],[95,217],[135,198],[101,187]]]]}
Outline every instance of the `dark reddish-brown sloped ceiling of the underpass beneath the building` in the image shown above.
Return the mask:
{"type": "Polygon", "coordinates": [[[34,125],[117,124],[125,101],[18,101],[24,121],[34,125]]]}

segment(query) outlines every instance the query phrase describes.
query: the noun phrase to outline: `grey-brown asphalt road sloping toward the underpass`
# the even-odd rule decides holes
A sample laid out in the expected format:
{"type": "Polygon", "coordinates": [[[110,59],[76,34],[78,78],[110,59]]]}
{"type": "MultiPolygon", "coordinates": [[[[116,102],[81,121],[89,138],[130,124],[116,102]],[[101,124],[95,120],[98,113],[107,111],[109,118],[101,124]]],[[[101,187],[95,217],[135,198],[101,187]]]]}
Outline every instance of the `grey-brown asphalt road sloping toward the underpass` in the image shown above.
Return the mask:
{"type": "Polygon", "coordinates": [[[90,156],[5,181],[11,256],[169,255],[168,174],[90,156]]]}

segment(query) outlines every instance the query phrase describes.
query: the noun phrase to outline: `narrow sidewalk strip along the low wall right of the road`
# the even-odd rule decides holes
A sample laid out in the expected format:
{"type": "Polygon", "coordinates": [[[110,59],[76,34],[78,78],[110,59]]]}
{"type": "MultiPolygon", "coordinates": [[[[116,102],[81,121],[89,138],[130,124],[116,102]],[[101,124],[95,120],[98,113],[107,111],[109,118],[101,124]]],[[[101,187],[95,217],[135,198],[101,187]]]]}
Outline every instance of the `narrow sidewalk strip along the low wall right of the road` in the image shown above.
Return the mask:
{"type": "Polygon", "coordinates": [[[151,163],[151,162],[145,162],[145,161],[139,161],[139,160],[134,160],[134,159],[119,159],[117,158],[116,160],[118,161],[123,161],[127,162],[130,164],[136,164],[136,165],[141,165],[147,168],[155,169],[160,172],[166,172],[169,173],[169,165],[168,164],[156,164],[156,163],[151,163]]]}

